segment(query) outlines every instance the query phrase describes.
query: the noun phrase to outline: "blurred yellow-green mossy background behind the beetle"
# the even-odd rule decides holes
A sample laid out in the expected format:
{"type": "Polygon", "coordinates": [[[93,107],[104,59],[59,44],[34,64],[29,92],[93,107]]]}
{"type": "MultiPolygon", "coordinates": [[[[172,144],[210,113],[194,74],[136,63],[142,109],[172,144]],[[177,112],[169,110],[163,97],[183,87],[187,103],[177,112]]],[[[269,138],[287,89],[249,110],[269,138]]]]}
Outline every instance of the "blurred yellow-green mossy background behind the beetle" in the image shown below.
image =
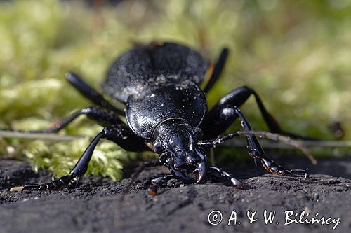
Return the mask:
{"type": "MultiPolygon", "coordinates": [[[[209,105],[241,85],[253,87],[286,130],[350,140],[351,1],[0,1],[0,128],[43,129],[91,105],[65,81],[75,71],[100,89],[111,62],[133,41],[176,41],[216,59],[230,48],[209,105]]],[[[266,130],[253,98],[242,111],[266,130]]],[[[62,134],[94,136],[79,118],[62,134]]],[[[0,156],[27,157],[35,169],[67,174],[89,139],[0,138],[0,156]]],[[[89,174],[121,178],[135,154],[104,141],[89,174]]],[[[245,156],[245,155],[243,155],[245,156]]]]}

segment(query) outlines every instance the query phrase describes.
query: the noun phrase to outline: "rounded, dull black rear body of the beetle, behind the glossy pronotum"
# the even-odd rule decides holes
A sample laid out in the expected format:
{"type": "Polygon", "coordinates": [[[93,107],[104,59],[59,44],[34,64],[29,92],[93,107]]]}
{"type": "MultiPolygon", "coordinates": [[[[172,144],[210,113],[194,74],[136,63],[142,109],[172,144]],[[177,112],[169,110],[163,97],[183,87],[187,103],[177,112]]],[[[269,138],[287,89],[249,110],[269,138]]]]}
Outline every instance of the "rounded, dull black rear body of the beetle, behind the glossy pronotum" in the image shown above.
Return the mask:
{"type": "Polygon", "coordinates": [[[208,64],[198,52],[176,43],[137,45],[112,64],[102,88],[126,103],[131,94],[149,90],[154,83],[173,80],[200,83],[208,64]]]}

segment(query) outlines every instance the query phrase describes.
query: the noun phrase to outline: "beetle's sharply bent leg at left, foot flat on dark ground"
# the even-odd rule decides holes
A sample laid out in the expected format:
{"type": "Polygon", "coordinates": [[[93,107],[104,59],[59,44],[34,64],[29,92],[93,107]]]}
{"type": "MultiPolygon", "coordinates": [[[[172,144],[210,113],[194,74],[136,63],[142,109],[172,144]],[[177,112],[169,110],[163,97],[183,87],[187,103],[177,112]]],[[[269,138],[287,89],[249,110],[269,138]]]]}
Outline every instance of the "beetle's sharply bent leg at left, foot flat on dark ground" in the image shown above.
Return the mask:
{"type": "Polygon", "coordinates": [[[64,188],[74,179],[77,179],[76,186],[79,183],[81,176],[84,176],[86,170],[88,169],[88,164],[93,155],[95,147],[98,145],[100,139],[108,139],[114,141],[117,145],[121,146],[129,151],[145,151],[148,150],[145,145],[145,140],[134,134],[127,125],[111,125],[109,127],[104,127],[102,132],[100,132],[89,146],[84,151],[83,155],[79,158],[77,164],[69,172],[69,175],[62,176],[51,183],[45,184],[27,184],[24,186],[23,190],[58,190],[64,188]]]}

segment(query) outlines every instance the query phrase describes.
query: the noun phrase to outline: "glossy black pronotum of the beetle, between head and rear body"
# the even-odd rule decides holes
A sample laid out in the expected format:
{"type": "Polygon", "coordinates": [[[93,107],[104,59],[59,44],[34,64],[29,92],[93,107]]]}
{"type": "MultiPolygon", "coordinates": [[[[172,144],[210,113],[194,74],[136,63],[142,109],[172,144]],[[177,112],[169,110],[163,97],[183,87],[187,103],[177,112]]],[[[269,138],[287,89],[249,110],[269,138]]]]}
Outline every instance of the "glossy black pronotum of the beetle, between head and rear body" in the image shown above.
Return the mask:
{"type": "Polygon", "coordinates": [[[181,118],[197,127],[207,112],[207,101],[200,87],[185,80],[182,83],[164,83],[147,94],[128,98],[126,120],[135,134],[151,139],[160,122],[181,118]]]}

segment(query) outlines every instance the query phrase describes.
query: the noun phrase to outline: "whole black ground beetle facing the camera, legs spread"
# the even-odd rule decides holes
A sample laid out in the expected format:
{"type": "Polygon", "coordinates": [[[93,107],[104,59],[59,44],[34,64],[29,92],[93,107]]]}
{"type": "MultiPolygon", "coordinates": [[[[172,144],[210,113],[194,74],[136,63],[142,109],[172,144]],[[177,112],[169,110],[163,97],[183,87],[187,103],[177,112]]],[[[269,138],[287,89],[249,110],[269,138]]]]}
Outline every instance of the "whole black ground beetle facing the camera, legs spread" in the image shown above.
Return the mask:
{"type": "MultiPolygon", "coordinates": [[[[152,180],[151,194],[157,187],[171,178],[185,183],[201,182],[206,177],[230,181],[241,188],[242,183],[218,167],[209,166],[204,148],[214,147],[234,134],[222,138],[219,135],[234,120],[240,118],[242,127],[251,130],[249,122],[239,110],[251,94],[256,98],[260,112],[271,132],[300,137],[284,132],[276,120],[263,106],[260,97],[250,87],[239,87],[225,95],[211,111],[207,112],[205,93],[211,90],[218,80],[227,59],[228,50],[224,48],[216,64],[184,45],[177,43],[137,44],[124,52],[110,67],[102,88],[114,99],[123,103],[124,111],[112,106],[98,91],[84,83],[74,73],[66,78],[84,97],[97,106],[83,108],[68,118],[55,123],[44,132],[58,132],[77,116],[84,114],[104,128],[72,169],[68,176],[39,184],[27,184],[24,190],[55,190],[68,185],[72,180],[83,176],[93,155],[93,150],[102,138],[114,141],[121,148],[130,151],[152,150],[159,160],[145,162],[144,167],[164,165],[171,174],[152,180]],[[201,90],[199,84],[208,76],[208,82],[201,90]],[[127,124],[119,115],[126,118],[127,124]],[[197,175],[197,177],[190,174],[197,175]]],[[[272,174],[298,176],[307,169],[284,169],[265,157],[256,136],[246,136],[249,155],[258,159],[272,174]]]]}

